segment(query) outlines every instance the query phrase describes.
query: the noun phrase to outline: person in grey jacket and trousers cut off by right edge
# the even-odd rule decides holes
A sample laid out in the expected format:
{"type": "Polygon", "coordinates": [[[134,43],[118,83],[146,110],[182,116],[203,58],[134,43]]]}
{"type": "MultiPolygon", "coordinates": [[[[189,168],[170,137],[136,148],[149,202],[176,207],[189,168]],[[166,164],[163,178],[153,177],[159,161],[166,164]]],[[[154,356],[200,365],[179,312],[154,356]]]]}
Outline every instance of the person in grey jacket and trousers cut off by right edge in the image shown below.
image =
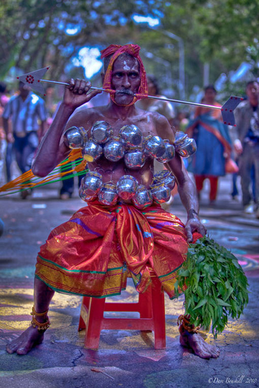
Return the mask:
{"type": "Polygon", "coordinates": [[[242,201],[245,213],[259,219],[259,83],[246,85],[247,99],[235,109],[236,133],[234,149],[239,155],[242,201]],[[254,168],[254,193],[251,193],[251,171],[254,168]],[[252,200],[254,196],[254,199],[252,200]]]}

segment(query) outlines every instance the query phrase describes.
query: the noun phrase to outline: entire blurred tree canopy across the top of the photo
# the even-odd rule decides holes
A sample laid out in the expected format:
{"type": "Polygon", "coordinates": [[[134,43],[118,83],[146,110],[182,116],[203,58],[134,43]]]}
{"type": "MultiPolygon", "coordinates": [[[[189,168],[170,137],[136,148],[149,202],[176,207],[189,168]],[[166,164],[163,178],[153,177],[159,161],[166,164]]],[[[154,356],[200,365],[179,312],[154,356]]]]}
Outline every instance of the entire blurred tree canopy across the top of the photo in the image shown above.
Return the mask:
{"type": "MultiPolygon", "coordinates": [[[[184,42],[189,95],[194,85],[202,87],[205,62],[210,63],[210,82],[243,61],[249,61],[258,76],[258,15],[259,0],[2,0],[0,78],[13,66],[25,73],[50,65],[46,77],[60,79],[84,45],[134,42],[171,63],[179,97],[179,47],[165,36],[166,30],[184,42]],[[161,24],[153,29],[137,25],[133,14],[159,17],[161,24]],[[65,32],[75,26],[75,34],[65,32]]],[[[158,75],[162,87],[171,86],[168,66],[142,57],[147,72],[158,75]]]]}

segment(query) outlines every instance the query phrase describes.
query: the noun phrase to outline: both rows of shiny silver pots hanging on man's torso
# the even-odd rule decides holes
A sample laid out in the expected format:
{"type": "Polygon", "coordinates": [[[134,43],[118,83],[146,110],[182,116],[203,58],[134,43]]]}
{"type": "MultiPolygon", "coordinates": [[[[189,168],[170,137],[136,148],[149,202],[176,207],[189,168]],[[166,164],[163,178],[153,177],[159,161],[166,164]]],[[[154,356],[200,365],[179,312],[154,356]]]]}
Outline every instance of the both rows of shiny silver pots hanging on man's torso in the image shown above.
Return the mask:
{"type": "MultiPolygon", "coordinates": [[[[196,151],[194,140],[182,132],[176,134],[174,145],[159,136],[143,138],[136,125],[123,126],[119,134],[113,137],[110,125],[105,121],[98,121],[94,123],[90,133],[91,137],[88,138],[83,127],[71,127],[64,133],[64,143],[71,149],[81,148],[84,159],[89,162],[98,160],[104,154],[113,162],[124,157],[127,168],[138,169],[144,165],[147,157],[166,163],[174,158],[175,151],[183,157],[196,151]]],[[[139,185],[132,175],[123,175],[117,184],[112,180],[103,183],[100,173],[90,171],[81,181],[79,195],[86,202],[97,198],[105,205],[113,205],[119,200],[132,201],[136,207],[145,208],[153,201],[168,201],[174,186],[175,178],[166,170],[154,174],[150,188],[139,185]]]]}

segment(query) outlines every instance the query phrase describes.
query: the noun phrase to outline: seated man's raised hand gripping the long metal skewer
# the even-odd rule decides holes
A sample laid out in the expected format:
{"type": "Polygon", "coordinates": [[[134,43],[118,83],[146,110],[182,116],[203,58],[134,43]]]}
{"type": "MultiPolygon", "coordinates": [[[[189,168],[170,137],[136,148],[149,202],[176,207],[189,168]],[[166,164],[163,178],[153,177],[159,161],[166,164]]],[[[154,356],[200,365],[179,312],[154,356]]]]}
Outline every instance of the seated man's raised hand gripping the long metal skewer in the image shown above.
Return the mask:
{"type": "Polygon", "coordinates": [[[93,90],[86,94],[91,87],[91,83],[86,80],[69,80],[69,86],[65,87],[63,104],[70,108],[78,108],[84,103],[90,101],[90,99],[96,94],[102,93],[101,90],[93,90]]]}

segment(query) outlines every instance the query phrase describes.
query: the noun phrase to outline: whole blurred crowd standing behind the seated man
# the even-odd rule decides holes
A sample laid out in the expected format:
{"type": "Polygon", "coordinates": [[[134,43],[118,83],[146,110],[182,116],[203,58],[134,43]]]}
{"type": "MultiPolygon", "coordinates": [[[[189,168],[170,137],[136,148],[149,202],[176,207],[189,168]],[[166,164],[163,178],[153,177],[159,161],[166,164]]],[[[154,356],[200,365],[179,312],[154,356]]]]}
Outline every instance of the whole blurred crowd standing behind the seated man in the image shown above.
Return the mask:
{"type": "MultiPolygon", "coordinates": [[[[144,98],[137,102],[140,109],[157,112],[167,117],[176,132],[186,132],[195,138],[197,152],[184,159],[187,170],[193,174],[198,196],[204,190],[204,182],[210,184],[209,202],[217,199],[220,177],[232,174],[230,199],[242,200],[245,213],[254,214],[259,219],[259,83],[247,83],[244,100],[235,110],[236,126],[225,125],[221,111],[213,108],[185,108],[186,105],[172,104],[164,100],[159,84],[153,75],[148,75],[148,94],[160,99],[144,98]],[[241,189],[241,190],[240,190],[241,189]]],[[[4,82],[0,83],[0,186],[31,168],[41,138],[49,128],[58,108],[56,89],[46,88],[46,96],[41,98],[23,83],[11,91],[4,82]],[[15,176],[16,174],[16,176],[15,176]]],[[[109,95],[95,96],[89,108],[109,102],[109,95]]],[[[204,88],[201,103],[219,107],[217,92],[213,85],[204,88]]],[[[80,109],[80,108],[79,108],[80,109]]],[[[155,169],[163,165],[155,164],[155,169]]],[[[61,181],[59,198],[66,200],[73,196],[75,184],[81,179],[69,178],[61,181]]],[[[174,189],[173,201],[177,189],[174,189]]],[[[21,192],[25,199],[31,192],[21,192]]]]}

